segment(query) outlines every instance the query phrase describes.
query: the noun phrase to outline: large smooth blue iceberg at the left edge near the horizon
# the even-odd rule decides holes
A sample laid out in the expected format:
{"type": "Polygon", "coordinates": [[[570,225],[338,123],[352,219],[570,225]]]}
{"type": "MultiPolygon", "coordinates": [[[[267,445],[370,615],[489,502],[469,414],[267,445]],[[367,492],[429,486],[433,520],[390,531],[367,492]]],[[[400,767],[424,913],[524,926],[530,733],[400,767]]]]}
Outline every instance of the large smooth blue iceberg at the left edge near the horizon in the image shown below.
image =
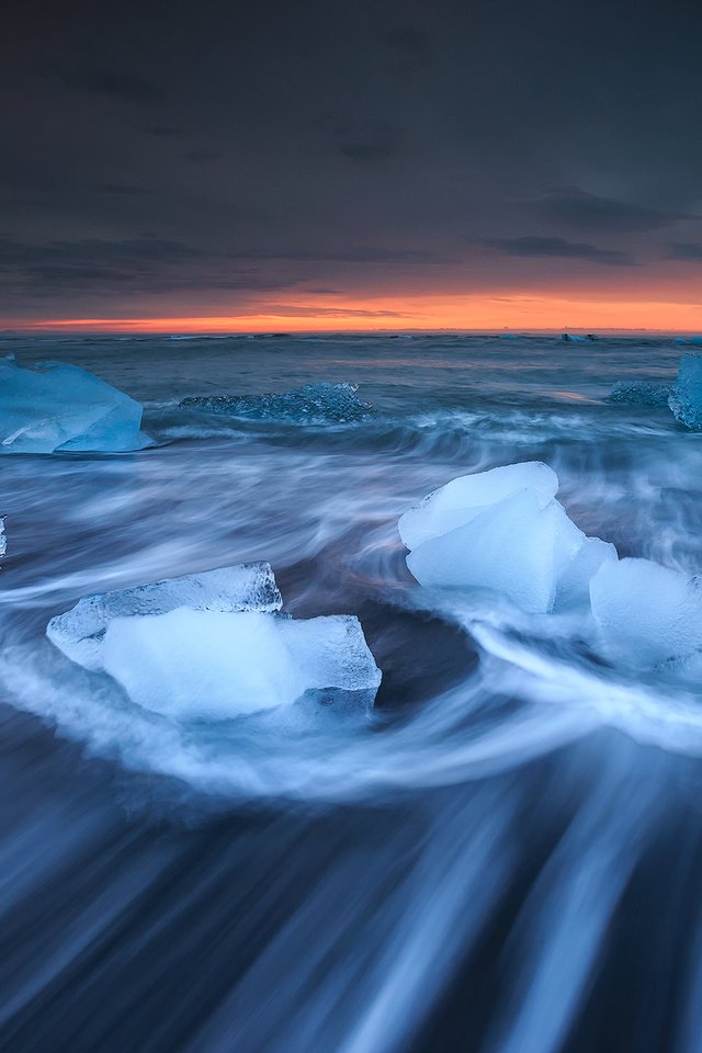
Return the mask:
{"type": "Polygon", "coordinates": [[[0,452],[140,450],[141,406],[77,365],[0,359],[0,452]]]}

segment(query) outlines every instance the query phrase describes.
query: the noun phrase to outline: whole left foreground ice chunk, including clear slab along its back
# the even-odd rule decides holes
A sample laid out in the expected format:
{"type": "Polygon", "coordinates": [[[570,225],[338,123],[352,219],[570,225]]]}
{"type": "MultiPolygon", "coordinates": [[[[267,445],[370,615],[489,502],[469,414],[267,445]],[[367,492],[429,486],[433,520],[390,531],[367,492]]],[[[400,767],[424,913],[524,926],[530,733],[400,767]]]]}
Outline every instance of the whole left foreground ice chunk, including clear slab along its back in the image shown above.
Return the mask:
{"type": "Polygon", "coordinates": [[[296,621],[281,607],[271,567],[246,564],[86,597],[47,636],[173,720],[229,720],[308,692],[372,704],[381,672],[358,619],[296,621]]]}

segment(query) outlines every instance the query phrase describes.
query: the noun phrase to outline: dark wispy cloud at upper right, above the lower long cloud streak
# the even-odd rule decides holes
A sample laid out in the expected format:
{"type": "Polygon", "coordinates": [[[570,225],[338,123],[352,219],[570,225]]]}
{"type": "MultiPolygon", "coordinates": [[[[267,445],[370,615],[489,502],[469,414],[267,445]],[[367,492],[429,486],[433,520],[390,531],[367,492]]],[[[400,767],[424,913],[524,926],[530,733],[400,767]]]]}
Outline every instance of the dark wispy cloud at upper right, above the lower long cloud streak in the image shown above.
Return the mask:
{"type": "Polygon", "coordinates": [[[611,197],[589,194],[577,186],[553,190],[536,201],[536,207],[556,222],[578,230],[605,230],[618,234],[657,230],[697,217],[683,212],[649,208],[611,197]]]}

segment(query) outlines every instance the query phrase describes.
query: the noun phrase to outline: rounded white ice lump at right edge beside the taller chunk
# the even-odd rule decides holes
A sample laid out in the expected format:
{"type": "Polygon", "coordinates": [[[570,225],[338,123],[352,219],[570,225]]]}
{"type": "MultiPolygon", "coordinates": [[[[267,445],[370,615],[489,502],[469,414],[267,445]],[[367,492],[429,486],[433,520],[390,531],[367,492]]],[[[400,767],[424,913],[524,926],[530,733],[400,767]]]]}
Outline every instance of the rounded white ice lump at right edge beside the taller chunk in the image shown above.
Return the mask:
{"type": "Polygon", "coordinates": [[[614,658],[656,666],[702,647],[702,582],[650,559],[602,564],[590,581],[592,613],[614,658]]]}

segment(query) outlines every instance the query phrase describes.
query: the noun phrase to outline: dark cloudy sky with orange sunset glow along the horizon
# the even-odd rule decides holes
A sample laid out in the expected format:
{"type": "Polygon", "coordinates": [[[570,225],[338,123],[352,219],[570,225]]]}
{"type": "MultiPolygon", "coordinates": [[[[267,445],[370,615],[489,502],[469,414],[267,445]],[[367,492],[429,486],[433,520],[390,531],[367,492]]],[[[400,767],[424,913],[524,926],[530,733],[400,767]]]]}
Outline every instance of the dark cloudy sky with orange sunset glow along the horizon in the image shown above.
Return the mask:
{"type": "Polygon", "coordinates": [[[701,331],[701,39],[697,0],[23,0],[0,327],[701,331]]]}

